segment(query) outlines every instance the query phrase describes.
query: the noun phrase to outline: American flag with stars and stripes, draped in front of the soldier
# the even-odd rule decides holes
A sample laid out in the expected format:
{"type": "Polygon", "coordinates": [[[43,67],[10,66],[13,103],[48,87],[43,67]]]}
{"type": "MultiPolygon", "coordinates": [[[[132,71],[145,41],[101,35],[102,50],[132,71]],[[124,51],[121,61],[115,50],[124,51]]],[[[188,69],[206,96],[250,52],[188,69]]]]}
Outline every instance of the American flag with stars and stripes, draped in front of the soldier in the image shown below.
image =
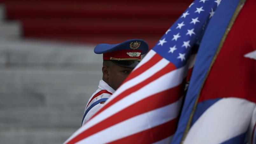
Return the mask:
{"type": "Polygon", "coordinates": [[[176,131],[192,47],[220,0],[196,0],[95,115],[65,143],[168,143],[176,131]]]}

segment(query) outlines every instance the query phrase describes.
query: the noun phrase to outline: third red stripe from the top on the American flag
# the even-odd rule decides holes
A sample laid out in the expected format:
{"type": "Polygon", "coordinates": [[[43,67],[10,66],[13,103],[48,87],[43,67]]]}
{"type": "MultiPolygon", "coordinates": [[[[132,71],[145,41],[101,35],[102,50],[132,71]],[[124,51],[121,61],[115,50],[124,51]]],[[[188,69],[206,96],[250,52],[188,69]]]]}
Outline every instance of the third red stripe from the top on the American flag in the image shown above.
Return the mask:
{"type": "MultiPolygon", "coordinates": [[[[173,102],[176,102],[180,98],[180,96],[183,94],[184,84],[185,84],[185,81],[183,81],[181,85],[162,91],[160,93],[156,93],[152,96],[149,96],[145,99],[138,101],[137,103],[131,106],[128,106],[127,108],[121,110],[120,112],[115,113],[111,117],[97,123],[93,127],[88,128],[84,132],[74,137],[67,144],[76,143],[105,128],[108,128],[117,123],[120,123],[121,121],[127,120],[136,115],[146,113],[154,109],[169,105],[173,102]]],[[[176,127],[176,124],[173,127],[176,127]]]]}

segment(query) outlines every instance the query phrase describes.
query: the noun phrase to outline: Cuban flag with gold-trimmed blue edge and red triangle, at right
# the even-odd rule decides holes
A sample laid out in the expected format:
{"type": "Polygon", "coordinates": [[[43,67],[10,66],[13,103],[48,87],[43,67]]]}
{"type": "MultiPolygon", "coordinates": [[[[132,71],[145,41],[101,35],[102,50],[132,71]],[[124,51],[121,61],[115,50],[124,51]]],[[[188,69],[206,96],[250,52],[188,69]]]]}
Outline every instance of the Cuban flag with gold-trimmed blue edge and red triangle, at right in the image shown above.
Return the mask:
{"type": "Polygon", "coordinates": [[[199,46],[172,144],[256,143],[255,7],[255,0],[218,4],[199,46]]]}

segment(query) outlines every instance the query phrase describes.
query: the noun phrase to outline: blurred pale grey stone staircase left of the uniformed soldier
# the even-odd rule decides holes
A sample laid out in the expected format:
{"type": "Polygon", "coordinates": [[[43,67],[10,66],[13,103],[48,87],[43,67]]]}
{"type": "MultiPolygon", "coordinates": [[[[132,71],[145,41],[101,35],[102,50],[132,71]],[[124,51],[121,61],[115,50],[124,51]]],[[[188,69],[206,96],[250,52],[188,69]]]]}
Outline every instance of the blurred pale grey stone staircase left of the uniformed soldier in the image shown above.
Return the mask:
{"type": "Polygon", "coordinates": [[[0,143],[63,143],[102,77],[95,45],[20,38],[0,6],[0,143]]]}

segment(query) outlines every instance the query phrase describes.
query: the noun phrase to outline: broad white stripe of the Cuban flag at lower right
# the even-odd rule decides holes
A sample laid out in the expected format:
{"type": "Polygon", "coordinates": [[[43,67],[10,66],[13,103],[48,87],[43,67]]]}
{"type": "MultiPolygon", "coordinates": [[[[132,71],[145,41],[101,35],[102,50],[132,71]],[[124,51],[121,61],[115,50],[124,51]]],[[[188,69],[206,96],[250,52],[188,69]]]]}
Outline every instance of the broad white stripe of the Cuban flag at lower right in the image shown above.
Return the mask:
{"type": "Polygon", "coordinates": [[[209,107],[190,128],[184,144],[222,143],[247,131],[255,103],[222,98],[209,107]]]}

